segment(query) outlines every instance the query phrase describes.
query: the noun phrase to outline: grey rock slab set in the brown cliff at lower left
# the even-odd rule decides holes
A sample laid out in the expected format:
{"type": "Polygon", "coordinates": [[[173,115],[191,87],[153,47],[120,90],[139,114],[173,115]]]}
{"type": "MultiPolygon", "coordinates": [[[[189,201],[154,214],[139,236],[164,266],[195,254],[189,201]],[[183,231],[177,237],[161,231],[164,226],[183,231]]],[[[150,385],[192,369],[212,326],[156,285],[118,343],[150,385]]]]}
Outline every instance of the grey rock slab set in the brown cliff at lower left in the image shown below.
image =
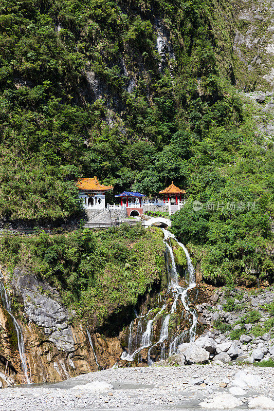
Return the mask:
{"type": "Polygon", "coordinates": [[[62,351],[72,351],[75,341],[69,314],[61,304],[59,294],[48,284],[42,283],[34,275],[25,274],[20,269],[14,270],[13,285],[24,302],[24,311],[29,320],[43,327],[48,340],[62,351]],[[50,296],[49,296],[50,295],[50,296]]]}

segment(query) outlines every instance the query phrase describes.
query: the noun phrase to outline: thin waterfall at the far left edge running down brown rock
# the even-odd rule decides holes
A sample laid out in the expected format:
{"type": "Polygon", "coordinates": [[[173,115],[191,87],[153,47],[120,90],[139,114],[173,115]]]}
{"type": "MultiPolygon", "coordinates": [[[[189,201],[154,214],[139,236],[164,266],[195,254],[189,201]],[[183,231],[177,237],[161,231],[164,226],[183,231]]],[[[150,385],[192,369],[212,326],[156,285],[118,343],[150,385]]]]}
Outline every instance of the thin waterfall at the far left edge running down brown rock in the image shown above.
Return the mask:
{"type": "Polygon", "coordinates": [[[19,350],[19,355],[20,355],[20,359],[21,359],[22,370],[23,370],[24,375],[26,377],[26,381],[29,384],[29,383],[31,383],[31,378],[28,377],[28,367],[27,367],[27,361],[26,361],[23,332],[22,332],[22,329],[21,329],[20,325],[17,323],[15,317],[11,313],[10,293],[4,285],[4,275],[3,275],[1,270],[0,270],[0,292],[1,292],[2,304],[3,304],[4,308],[6,309],[6,311],[9,313],[9,315],[11,317],[11,321],[14,325],[15,330],[16,330],[17,341],[18,341],[18,350],[19,350]]]}

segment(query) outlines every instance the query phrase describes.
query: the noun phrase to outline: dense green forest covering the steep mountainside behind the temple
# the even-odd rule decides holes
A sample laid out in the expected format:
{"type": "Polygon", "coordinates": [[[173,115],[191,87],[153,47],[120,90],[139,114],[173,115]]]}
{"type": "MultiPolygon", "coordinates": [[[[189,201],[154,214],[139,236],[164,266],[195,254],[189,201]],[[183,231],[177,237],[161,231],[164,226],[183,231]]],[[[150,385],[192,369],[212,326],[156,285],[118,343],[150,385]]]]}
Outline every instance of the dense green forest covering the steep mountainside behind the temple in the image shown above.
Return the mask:
{"type": "Polygon", "coordinates": [[[80,176],[113,184],[112,195],[153,196],[173,180],[189,198],[173,230],[204,277],[271,281],[273,142],[258,133],[241,94],[255,82],[238,80],[233,5],[0,7],[1,217],[75,215],[80,176]],[[203,208],[195,211],[194,200],[203,208]]]}

